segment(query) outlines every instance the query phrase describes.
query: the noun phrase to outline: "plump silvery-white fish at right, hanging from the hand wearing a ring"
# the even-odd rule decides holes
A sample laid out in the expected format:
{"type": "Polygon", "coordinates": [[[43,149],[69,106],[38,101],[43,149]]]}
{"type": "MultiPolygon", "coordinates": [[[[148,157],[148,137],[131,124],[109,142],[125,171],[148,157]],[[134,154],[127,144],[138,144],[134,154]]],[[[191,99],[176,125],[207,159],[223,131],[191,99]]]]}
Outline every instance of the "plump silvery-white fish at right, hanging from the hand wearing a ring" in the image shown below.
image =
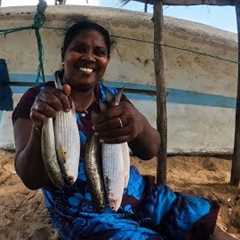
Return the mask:
{"type": "MultiPolygon", "coordinates": [[[[106,105],[119,105],[122,93],[123,89],[116,96],[108,93],[106,105]]],[[[106,105],[100,105],[100,109],[105,110],[106,105]]],[[[102,143],[102,168],[108,205],[117,211],[121,206],[124,188],[127,187],[129,180],[130,157],[127,142],[102,143]]]]}

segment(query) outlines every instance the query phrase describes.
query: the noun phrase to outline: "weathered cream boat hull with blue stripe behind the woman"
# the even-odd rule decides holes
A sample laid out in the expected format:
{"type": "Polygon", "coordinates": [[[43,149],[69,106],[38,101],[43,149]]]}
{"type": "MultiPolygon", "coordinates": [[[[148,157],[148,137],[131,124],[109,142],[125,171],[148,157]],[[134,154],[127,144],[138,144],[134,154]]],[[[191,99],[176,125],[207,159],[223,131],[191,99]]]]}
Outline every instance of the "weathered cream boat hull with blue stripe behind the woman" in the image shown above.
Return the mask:
{"type": "MultiPolygon", "coordinates": [[[[30,26],[35,7],[0,8],[0,29],[30,26]]],[[[96,20],[114,40],[104,82],[125,94],[156,127],[153,24],[148,13],[92,6],[49,6],[40,29],[46,80],[61,66],[64,30],[76,19],[96,20]]],[[[168,153],[231,154],[237,93],[237,36],[207,25],[164,18],[168,153]]],[[[14,106],[34,84],[38,50],[33,30],[0,37],[14,106]],[[24,86],[23,86],[24,85],[24,86]]],[[[0,76],[1,83],[1,76],[0,76]]],[[[0,147],[14,149],[12,111],[0,112],[0,147]]]]}

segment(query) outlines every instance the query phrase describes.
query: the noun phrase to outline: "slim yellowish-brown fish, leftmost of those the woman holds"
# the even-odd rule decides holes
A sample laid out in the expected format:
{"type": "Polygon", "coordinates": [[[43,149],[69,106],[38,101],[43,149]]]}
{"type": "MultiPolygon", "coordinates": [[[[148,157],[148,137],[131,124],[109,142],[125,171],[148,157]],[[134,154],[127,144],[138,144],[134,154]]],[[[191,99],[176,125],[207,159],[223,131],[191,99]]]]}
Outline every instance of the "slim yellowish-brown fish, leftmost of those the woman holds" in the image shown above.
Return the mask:
{"type": "Polygon", "coordinates": [[[50,181],[56,188],[61,188],[64,179],[57,159],[52,118],[48,118],[42,127],[41,154],[50,181]]]}

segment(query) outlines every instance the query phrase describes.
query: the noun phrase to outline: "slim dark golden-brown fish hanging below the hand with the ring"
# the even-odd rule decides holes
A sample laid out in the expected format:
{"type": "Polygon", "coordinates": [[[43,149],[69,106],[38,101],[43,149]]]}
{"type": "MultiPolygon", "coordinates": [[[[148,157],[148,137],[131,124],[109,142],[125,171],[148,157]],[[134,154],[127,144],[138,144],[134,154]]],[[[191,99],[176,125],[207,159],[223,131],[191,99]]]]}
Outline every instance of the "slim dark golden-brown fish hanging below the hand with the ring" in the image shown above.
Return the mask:
{"type": "Polygon", "coordinates": [[[98,137],[92,134],[85,149],[85,170],[97,210],[106,206],[98,137]]]}

